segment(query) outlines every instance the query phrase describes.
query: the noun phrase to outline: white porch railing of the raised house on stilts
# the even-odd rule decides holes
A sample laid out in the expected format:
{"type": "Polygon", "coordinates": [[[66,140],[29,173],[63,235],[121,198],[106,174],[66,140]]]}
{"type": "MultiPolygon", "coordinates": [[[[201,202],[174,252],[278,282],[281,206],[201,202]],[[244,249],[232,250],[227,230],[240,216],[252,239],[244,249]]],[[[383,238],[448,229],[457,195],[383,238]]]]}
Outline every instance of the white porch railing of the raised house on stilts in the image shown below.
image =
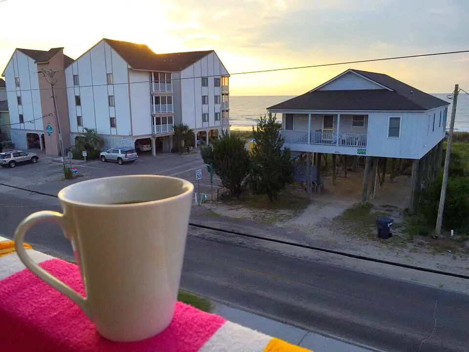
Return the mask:
{"type": "MultiPolygon", "coordinates": [[[[310,144],[340,145],[343,147],[366,147],[366,134],[339,133],[331,131],[310,132],[310,144]]],[[[282,131],[285,143],[308,144],[308,131],[282,131]]]]}

